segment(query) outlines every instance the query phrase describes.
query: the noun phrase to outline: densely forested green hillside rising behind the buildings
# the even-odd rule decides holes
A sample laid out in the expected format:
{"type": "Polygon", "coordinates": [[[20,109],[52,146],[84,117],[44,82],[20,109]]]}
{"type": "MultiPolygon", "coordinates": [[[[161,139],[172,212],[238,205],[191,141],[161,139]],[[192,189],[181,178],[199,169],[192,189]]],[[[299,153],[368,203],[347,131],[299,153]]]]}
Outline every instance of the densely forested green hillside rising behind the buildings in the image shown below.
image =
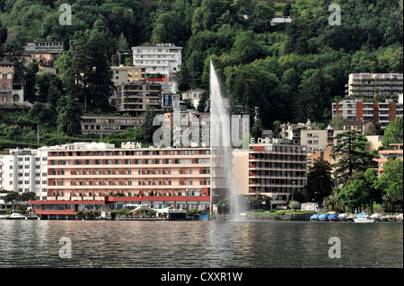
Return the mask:
{"type": "Polygon", "coordinates": [[[181,91],[208,88],[212,60],[232,105],[251,115],[258,106],[267,128],[276,120],[329,123],[331,102],[344,96],[348,74],[403,73],[399,0],[297,0],[294,21],[271,26],[275,8],[256,0],[5,0],[0,56],[15,60],[26,41],[63,41],[57,77],[20,66],[27,99],[48,104],[51,115],[62,95],[110,112],[109,66],[119,63],[117,49],[174,43],[184,47],[181,91]],[[65,3],[72,25],[58,22],[65,3]],[[341,25],[329,25],[331,3],[341,7],[341,25]],[[75,75],[94,66],[85,79],[91,88],[77,88],[75,75]]]}

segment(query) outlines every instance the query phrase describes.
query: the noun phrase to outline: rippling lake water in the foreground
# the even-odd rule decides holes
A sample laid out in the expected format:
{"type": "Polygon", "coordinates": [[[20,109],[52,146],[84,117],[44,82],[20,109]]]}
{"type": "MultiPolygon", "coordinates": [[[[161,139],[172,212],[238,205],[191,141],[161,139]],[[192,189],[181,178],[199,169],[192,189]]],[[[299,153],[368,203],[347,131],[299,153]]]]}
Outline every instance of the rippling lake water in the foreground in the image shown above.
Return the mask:
{"type": "Polygon", "coordinates": [[[0,267],[402,268],[403,224],[2,220],[0,267]]]}

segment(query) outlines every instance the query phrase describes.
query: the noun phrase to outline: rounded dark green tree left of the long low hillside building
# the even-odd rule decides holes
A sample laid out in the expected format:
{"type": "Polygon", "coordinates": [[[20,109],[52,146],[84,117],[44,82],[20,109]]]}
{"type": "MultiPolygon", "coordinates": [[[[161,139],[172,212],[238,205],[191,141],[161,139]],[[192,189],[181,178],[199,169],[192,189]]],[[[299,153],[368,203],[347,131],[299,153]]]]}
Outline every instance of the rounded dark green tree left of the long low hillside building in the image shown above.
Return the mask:
{"type": "Polygon", "coordinates": [[[77,98],[65,95],[57,101],[57,131],[68,135],[80,134],[83,108],[77,98]]]}

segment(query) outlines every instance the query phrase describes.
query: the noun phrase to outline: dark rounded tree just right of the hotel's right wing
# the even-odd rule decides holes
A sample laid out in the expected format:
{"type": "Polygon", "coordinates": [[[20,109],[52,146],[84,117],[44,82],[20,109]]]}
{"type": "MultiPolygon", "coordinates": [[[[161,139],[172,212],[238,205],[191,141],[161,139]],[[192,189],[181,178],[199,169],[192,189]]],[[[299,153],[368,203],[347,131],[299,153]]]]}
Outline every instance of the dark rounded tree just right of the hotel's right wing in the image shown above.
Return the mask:
{"type": "Polygon", "coordinates": [[[307,174],[307,198],[309,201],[321,203],[324,197],[331,195],[333,181],[331,164],[322,157],[314,160],[312,169],[307,174]]]}

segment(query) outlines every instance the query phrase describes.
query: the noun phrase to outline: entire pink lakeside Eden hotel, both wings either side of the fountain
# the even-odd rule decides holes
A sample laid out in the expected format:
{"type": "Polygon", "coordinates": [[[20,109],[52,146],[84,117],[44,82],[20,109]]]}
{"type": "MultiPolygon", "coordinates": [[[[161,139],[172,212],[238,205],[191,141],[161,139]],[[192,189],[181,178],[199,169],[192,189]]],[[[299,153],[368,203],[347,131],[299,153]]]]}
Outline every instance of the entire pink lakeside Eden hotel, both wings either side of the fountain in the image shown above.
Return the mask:
{"type": "MultiPolygon", "coordinates": [[[[239,193],[272,195],[274,207],[287,204],[292,191],[303,190],[306,178],[305,148],[277,146],[261,145],[245,156],[233,156],[239,193]]],[[[134,209],[136,204],[205,211],[217,203],[218,193],[211,192],[215,186],[210,181],[209,148],[139,148],[136,143],[122,147],[127,148],[110,143],[44,147],[48,196],[31,201],[33,210],[67,217],[80,210],[134,209]]]]}

